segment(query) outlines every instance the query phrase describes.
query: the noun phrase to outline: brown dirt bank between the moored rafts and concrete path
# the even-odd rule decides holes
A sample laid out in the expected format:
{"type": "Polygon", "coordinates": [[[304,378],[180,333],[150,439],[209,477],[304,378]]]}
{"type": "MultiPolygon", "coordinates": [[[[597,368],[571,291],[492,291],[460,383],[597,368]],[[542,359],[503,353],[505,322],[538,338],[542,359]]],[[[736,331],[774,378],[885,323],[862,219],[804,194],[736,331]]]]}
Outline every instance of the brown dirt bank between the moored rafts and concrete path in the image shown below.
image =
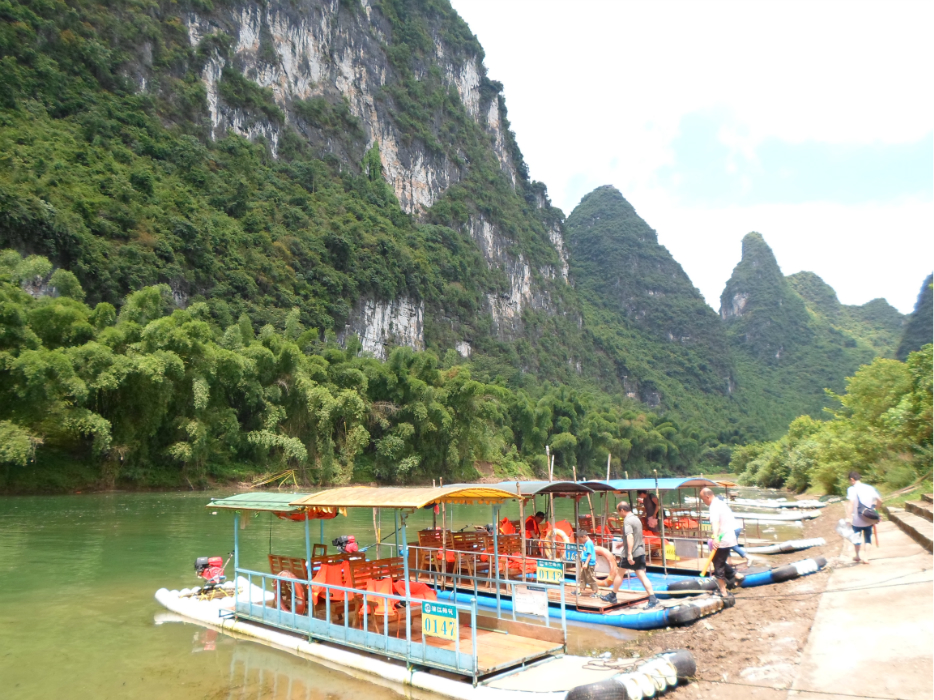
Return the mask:
{"type": "MultiPolygon", "coordinates": [[[[834,528],[842,517],[843,504],[836,503],[825,508],[821,517],[805,522],[802,537],[823,537],[827,540],[823,547],[759,556],[772,566],[816,556],[839,565],[842,541],[834,528]]],[[[691,683],[666,697],[785,700],[828,578],[829,571],[825,570],[787,583],[741,589],[736,592],[734,608],[690,627],[640,637],[617,648],[614,654],[648,656],[665,649],[690,649],[697,659],[699,678],[725,681],[691,683]]]]}

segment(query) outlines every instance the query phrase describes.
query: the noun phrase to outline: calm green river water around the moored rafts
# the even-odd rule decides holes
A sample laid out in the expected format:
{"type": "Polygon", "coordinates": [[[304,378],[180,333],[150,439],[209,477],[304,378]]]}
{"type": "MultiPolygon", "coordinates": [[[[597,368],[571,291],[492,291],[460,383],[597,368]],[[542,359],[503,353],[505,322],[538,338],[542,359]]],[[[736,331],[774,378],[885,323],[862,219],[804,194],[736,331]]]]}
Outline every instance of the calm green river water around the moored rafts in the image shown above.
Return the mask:
{"type": "MultiPolygon", "coordinates": [[[[315,698],[385,700],[392,690],[197,625],[164,622],[158,588],[197,585],[194,560],[233,548],[233,517],[205,507],[222,493],[0,497],[0,698],[315,698]]],[[[543,505],[543,504],[540,504],[543,505]]],[[[489,506],[456,506],[454,529],[490,522],[489,506]]],[[[559,518],[572,515],[559,499],[559,518]]],[[[370,511],[325,521],[326,542],[373,541],[370,511]]],[[[518,516],[515,504],[503,514],[518,516]]],[[[431,513],[409,519],[431,524],[431,513]]],[[[383,534],[394,537],[383,515],[383,534]]],[[[312,526],[315,539],[318,526],[312,526]]],[[[304,556],[304,528],[256,514],[240,532],[241,566],[304,556]]],[[[384,551],[383,556],[390,553],[384,551]]],[[[228,569],[230,571],[230,569],[228,569]]],[[[574,626],[569,651],[611,648],[637,633],[574,626]]]]}

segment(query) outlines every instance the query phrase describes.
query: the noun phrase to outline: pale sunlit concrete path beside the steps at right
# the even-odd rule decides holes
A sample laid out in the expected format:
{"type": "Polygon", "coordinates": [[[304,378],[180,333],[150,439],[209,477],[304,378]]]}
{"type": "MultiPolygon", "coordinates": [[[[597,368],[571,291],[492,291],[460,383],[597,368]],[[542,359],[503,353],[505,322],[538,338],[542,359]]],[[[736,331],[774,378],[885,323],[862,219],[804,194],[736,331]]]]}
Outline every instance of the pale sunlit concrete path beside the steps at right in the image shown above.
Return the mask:
{"type": "Polygon", "coordinates": [[[932,556],[894,523],[878,529],[881,547],[862,548],[870,565],[831,575],[788,698],[934,697],[932,556]]]}

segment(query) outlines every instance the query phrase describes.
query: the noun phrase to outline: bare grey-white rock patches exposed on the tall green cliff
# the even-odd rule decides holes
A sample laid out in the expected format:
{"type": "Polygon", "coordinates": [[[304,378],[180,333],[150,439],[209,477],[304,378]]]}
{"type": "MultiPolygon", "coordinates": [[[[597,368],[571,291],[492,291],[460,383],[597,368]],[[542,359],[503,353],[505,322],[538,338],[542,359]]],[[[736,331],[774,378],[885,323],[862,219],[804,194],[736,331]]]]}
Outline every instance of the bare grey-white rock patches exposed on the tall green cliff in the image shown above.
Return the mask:
{"type": "MultiPolygon", "coordinates": [[[[402,40],[394,36],[401,27],[392,8],[369,0],[363,0],[355,10],[348,10],[350,6],[353,3],[340,0],[271,0],[185,14],[189,41],[205,57],[201,77],[207,92],[211,136],[234,132],[250,139],[263,138],[277,155],[282,135],[294,129],[323,150],[350,160],[348,167],[353,167],[354,156],[359,157],[360,152],[375,144],[383,174],[399,205],[409,214],[423,217],[453,185],[469,179],[473,164],[461,145],[446,134],[444,124],[413,128],[407,103],[401,104],[411,96],[396,89],[407,77],[407,67],[400,68],[393,53],[401,51],[402,40]],[[268,89],[276,108],[281,110],[281,118],[257,117],[235,100],[225,99],[222,81],[225,71],[230,70],[268,89]],[[362,143],[356,150],[352,143],[348,144],[346,133],[331,133],[310,119],[303,107],[309,103],[346,105],[361,132],[362,143]]],[[[458,107],[485,135],[486,149],[515,190],[525,181],[510,145],[501,86],[487,79],[482,49],[473,37],[472,42],[463,41],[466,26],[457,23],[463,24],[453,15],[447,23],[419,25],[431,46],[414,60],[411,77],[416,82],[440,81],[442,91],[453,91],[458,107]],[[460,41],[451,40],[457,36],[452,23],[460,31],[460,41]]],[[[144,81],[145,77],[140,79],[144,81]]],[[[451,119],[451,115],[445,116],[451,119]]],[[[551,309],[547,283],[540,282],[568,282],[560,222],[547,231],[552,261],[537,266],[517,246],[514,237],[502,232],[497,217],[484,216],[468,207],[462,228],[471,235],[487,264],[505,275],[505,289],[487,293],[486,311],[492,316],[497,334],[514,339],[522,331],[523,310],[551,309]]],[[[423,347],[422,324],[412,323],[412,303],[400,299],[357,304],[348,327],[365,339],[372,338],[372,342],[364,342],[367,350],[391,342],[423,347]],[[372,304],[376,304],[378,312],[368,306],[372,304]],[[391,328],[409,330],[392,338],[380,336],[391,328]]]]}

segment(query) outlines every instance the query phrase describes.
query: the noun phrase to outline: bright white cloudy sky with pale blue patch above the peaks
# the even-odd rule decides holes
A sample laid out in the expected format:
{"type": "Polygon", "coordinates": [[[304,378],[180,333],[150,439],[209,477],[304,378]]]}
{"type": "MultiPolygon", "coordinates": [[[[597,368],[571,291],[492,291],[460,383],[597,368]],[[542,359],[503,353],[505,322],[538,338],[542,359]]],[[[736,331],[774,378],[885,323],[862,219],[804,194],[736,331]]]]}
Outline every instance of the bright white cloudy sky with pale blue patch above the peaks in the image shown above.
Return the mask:
{"type": "Polygon", "coordinates": [[[570,214],[617,187],[707,302],[758,231],[844,304],[934,266],[934,3],[452,0],[570,214]]]}

